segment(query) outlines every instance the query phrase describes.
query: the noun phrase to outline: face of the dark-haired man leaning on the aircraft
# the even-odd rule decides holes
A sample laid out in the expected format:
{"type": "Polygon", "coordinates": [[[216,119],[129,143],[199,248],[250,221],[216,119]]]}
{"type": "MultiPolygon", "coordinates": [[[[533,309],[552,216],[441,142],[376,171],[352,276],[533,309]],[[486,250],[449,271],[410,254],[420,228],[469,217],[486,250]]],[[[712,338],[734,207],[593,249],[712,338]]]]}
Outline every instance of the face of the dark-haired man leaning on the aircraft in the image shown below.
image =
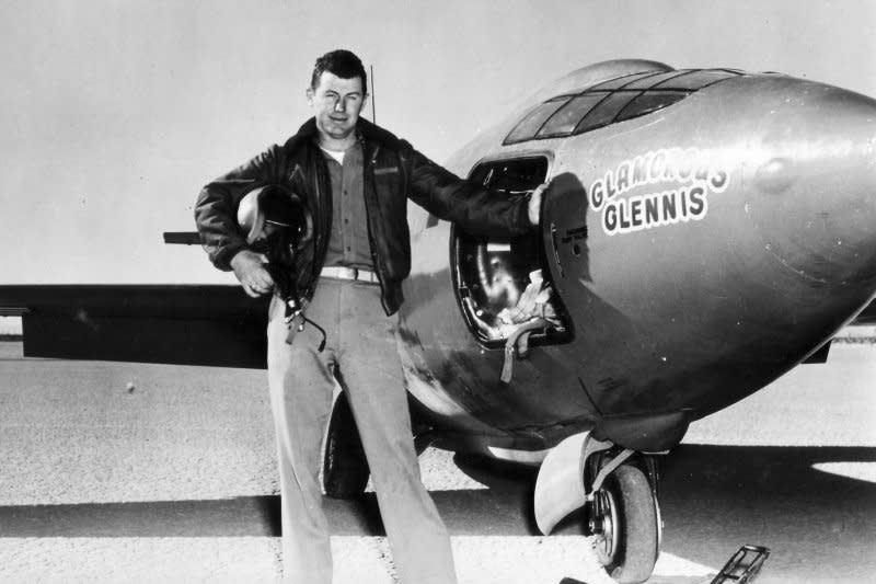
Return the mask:
{"type": "Polygon", "coordinates": [[[335,140],[349,137],[356,129],[365,105],[365,91],[359,77],[342,79],[323,71],[316,89],[308,89],[308,101],[315,110],[320,134],[335,140]]]}

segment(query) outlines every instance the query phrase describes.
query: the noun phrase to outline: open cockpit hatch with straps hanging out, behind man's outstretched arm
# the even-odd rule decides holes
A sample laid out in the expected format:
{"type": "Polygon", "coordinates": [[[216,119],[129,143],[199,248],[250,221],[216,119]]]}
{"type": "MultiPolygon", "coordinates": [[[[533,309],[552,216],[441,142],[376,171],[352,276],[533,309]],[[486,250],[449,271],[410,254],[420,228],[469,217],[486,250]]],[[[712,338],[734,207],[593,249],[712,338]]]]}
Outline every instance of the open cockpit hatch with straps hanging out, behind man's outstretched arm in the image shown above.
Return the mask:
{"type": "MultiPolygon", "coordinates": [[[[548,167],[544,156],[487,161],[472,169],[469,179],[509,197],[527,196],[545,181],[548,167]]],[[[485,238],[453,227],[450,241],[457,300],[469,329],[482,345],[503,347],[521,328],[532,329],[532,345],[561,343],[570,337],[570,322],[550,282],[538,231],[485,238]],[[538,309],[526,318],[527,312],[521,316],[519,307],[531,305],[526,296],[531,297],[538,289],[539,278],[544,283],[538,309]],[[545,288],[550,290],[543,291],[545,288]],[[516,319],[509,319],[510,314],[516,319]]]]}

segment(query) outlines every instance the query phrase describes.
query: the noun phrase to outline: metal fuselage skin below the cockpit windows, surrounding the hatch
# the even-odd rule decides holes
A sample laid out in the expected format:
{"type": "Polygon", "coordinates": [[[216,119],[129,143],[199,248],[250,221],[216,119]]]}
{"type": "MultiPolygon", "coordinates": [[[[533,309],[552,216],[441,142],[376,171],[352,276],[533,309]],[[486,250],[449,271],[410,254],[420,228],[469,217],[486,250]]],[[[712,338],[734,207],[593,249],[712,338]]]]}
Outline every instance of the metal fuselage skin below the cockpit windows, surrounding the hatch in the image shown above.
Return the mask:
{"type": "Polygon", "coordinates": [[[435,416],[446,428],[476,421],[493,428],[492,444],[533,450],[591,428],[637,449],[671,447],[690,421],[783,375],[873,299],[868,98],[752,75],[566,139],[502,147],[508,129],[487,131],[493,141],[470,146],[456,170],[553,153],[544,248],[574,340],[533,350],[500,383],[502,352],[474,342],[453,301],[447,225],[415,228],[402,352],[417,364],[407,371],[412,394],[454,404],[435,416]],[[636,157],[650,157],[655,180],[632,180],[636,157]],[[670,193],[680,207],[680,191],[683,220],[645,225],[645,201],[670,193]],[[629,215],[634,198],[638,221],[627,217],[621,232],[624,219],[607,219],[607,209],[624,205],[629,215]]]}

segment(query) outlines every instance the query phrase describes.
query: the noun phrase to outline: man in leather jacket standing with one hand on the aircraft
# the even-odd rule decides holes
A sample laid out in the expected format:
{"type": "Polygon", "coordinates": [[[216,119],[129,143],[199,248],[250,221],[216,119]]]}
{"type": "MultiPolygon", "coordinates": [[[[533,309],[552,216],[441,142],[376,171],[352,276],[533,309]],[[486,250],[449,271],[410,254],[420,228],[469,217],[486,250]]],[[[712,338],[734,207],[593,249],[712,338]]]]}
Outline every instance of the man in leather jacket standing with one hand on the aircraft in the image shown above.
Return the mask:
{"type": "Polygon", "coordinates": [[[332,580],[318,473],[337,380],[359,430],[401,581],[453,583],[450,539],[419,479],[391,318],[411,270],[406,203],[411,198],[473,232],[517,234],[538,225],[544,185],[527,201],[460,180],[361,119],[366,88],[365,68],[353,53],[319,58],[307,90],[314,117],[283,147],[205,186],[195,218],[215,265],[233,270],[246,294],[260,296],[275,283],[235,224],[241,198],[283,184],[312,215],[313,237],[295,254],[295,290],[297,306],[325,330],[325,347],[320,350],[316,328],[288,322],[276,294],[267,331],[285,580],[332,580]]]}

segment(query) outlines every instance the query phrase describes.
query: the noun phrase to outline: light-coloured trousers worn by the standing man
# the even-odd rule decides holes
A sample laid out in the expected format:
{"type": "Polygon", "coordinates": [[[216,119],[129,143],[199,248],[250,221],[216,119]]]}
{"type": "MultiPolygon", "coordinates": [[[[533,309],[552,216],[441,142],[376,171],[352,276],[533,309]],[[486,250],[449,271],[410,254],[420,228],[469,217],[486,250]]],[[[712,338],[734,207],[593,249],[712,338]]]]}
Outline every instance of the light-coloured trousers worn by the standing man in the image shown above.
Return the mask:
{"type": "MultiPolygon", "coordinates": [[[[423,486],[411,414],[380,286],[321,278],[307,316],[311,324],[286,343],[284,306],[268,319],[268,382],[277,436],[284,582],[331,584],[330,529],[319,480],[322,439],[335,379],[359,428],[380,514],[402,584],[454,584],[450,538],[423,486]]],[[[336,583],[346,584],[346,583],[336,583]]]]}

